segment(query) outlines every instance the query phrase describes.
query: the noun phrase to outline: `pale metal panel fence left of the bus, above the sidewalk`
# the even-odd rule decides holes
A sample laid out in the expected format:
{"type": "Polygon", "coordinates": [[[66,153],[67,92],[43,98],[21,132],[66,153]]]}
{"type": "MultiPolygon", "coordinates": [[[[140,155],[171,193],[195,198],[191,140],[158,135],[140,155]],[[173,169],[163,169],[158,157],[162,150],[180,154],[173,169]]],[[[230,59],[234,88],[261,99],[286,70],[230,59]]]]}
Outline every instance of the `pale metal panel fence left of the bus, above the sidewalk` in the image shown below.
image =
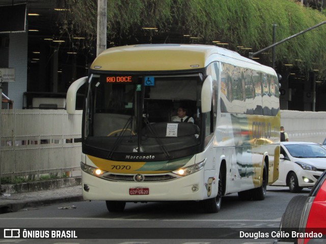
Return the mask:
{"type": "MultiPolygon", "coordinates": [[[[82,111],[1,111],[0,177],[68,174],[79,170],[82,111]]],[[[68,176],[68,175],[67,175],[68,176]]]]}

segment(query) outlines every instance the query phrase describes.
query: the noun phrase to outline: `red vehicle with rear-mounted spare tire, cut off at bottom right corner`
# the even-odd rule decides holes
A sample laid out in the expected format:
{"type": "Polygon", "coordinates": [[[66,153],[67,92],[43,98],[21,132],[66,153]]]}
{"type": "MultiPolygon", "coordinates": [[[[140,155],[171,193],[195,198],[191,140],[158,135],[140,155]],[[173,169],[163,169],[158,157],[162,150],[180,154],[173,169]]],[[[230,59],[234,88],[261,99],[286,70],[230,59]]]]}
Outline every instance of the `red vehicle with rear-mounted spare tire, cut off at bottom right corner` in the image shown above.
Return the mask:
{"type": "Polygon", "coordinates": [[[291,199],[282,216],[280,231],[288,233],[289,237],[281,238],[274,244],[326,243],[326,171],[308,196],[298,195],[291,199]],[[298,233],[298,238],[293,237],[293,231],[298,233]]]}

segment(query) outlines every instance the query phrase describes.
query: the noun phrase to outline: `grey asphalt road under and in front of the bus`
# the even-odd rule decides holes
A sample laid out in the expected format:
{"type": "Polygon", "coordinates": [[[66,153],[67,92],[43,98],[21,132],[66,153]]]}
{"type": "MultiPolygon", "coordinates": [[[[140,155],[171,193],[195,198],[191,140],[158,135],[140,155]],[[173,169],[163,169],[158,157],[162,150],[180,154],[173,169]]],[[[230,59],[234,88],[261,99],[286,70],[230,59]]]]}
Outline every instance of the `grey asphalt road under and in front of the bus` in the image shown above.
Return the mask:
{"type": "MultiPolygon", "coordinates": [[[[300,195],[308,195],[305,188],[300,195]]],[[[83,239],[4,239],[0,243],[273,243],[276,238],[233,238],[235,231],[264,232],[279,227],[292,197],[287,187],[267,187],[264,201],[225,196],[219,213],[207,214],[196,202],[127,203],[122,213],[109,213],[103,201],[53,204],[0,215],[0,228],[77,229],[83,239]],[[92,228],[92,229],[91,229],[92,228]],[[114,229],[119,228],[119,229],[114,229]],[[235,229],[234,229],[235,228],[235,229]],[[231,230],[231,232],[230,232],[231,230]],[[213,233],[213,234],[212,234],[213,233]],[[214,235],[214,233],[217,233],[214,235]],[[206,237],[207,236],[207,237],[206,237]],[[213,238],[208,238],[213,236],[213,238]],[[113,239],[113,238],[115,239],[113,239]],[[90,238],[90,239],[88,239],[90,238]],[[230,239],[232,238],[232,239],[230,239]]],[[[31,232],[32,233],[32,232],[31,232]]]]}

